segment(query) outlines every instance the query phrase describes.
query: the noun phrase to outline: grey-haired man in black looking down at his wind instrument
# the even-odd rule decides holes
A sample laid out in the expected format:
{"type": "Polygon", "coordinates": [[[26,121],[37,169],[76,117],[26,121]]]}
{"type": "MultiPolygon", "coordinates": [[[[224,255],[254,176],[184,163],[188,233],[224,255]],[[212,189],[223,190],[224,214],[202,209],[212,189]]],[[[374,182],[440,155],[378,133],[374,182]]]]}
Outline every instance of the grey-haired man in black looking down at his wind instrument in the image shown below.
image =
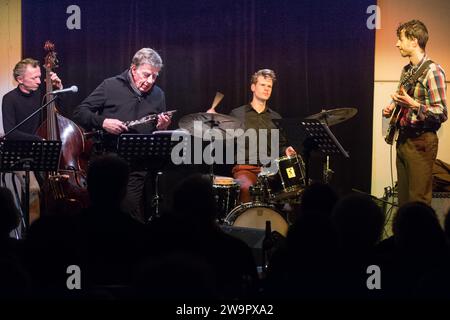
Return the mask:
{"type": "MultiPolygon", "coordinates": [[[[128,131],[123,122],[166,111],[164,92],[155,85],[162,67],[162,59],[156,51],[150,48],[140,49],[134,55],[129,69],[104,80],[77,107],[74,120],[88,131],[103,129],[119,135],[128,131]]],[[[151,133],[155,129],[166,130],[170,122],[169,116],[161,114],[158,115],[156,126],[146,123],[134,127],[133,130],[138,133],[151,133]]],[[[130,174],[123,205],[124,211],[140,222],[147,220],[143,196],[146,178],[145,172],[130,174]]]]}

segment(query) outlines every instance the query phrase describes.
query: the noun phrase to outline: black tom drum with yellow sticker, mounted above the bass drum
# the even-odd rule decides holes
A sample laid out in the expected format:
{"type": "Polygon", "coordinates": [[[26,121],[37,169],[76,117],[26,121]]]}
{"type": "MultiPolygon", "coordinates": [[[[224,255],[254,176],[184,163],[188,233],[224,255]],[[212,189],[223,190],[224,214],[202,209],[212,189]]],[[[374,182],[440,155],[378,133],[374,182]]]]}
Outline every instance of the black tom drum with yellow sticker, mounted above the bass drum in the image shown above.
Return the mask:
{"type": "Polygon", "coordinates": [[[263,168],[258,177],[269,200],[298,197],[305,186],[305,164],[300,155],[275,159],[274,167],[276,171],[263,168]]]}

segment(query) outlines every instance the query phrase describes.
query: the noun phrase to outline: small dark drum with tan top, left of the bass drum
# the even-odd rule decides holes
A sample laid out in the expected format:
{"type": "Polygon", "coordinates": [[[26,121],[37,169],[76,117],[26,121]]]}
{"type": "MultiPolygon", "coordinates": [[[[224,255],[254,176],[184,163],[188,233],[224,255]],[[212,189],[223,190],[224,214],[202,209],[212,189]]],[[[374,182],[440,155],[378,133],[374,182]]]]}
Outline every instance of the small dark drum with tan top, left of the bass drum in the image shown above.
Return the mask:
{"type": "Polygon", "coordinates": [[[223,221],[227,214],[238,205],[240,187],[233,178],[215,176],[213,191],[218,208],[218,219],[223,221]]]}

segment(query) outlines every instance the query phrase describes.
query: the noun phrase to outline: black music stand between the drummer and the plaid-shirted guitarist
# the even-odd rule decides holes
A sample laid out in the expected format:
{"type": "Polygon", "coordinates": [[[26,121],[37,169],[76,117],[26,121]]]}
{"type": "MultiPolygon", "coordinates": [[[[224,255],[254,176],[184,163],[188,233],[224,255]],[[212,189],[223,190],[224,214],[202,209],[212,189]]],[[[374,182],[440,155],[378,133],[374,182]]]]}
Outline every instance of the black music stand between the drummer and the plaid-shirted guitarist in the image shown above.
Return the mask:
{"type": "Polygon", "coordinates": [[[313,151],[322,152],[325,155],[342,154],[350,158],[347,151],[336,139],[327,124],[317,119],[304,119],[300,121],[303,131],[303,155],[305,157],[305,185],[309,185],[309,158],[313,151]]]}

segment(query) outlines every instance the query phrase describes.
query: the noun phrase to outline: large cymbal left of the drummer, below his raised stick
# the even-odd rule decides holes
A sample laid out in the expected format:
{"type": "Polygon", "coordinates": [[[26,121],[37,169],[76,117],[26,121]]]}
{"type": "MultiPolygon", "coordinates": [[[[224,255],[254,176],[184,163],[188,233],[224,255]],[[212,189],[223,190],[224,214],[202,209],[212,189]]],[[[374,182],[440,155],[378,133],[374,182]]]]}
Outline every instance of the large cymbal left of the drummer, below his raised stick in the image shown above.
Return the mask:
{"type": "Polygon", "coordinates": [[[178,125],[180,128],[187,130],[191,135],[201,139],[206,138],[206,140],[209,138],[208,135],[205,135],[205,132],[211,133],[216,139],[232,139],[237,136],[233,133],[226,132],[227,129],[244,129],[243,123],[237,118],[221,113],[207,112],[185,115],[180,119],[178,125]],[[195,123],[197,123],[197,126],[194,127],[195,123]]]}

